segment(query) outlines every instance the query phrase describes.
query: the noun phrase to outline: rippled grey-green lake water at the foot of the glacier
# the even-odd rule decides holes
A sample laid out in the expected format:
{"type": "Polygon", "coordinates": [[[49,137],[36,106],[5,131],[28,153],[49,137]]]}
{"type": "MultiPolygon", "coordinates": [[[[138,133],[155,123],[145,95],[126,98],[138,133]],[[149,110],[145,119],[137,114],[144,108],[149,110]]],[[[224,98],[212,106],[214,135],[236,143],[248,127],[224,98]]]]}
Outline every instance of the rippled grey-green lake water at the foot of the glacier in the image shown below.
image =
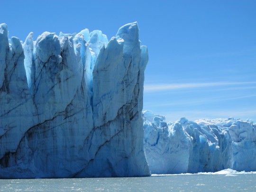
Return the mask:
{"type": "Polygon", "coordinates": [[[6,179],[0,192],[256,191],[256,174],[178,174],[83,179],[6,179]]]}

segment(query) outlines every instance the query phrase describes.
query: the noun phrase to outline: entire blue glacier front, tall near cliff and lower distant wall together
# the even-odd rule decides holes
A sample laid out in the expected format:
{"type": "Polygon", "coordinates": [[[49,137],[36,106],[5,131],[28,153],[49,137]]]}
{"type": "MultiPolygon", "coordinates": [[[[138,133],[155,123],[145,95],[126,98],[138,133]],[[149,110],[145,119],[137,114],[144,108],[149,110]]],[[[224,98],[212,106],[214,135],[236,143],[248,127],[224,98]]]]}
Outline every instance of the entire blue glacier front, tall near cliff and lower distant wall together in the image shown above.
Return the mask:
{"type": "Polygon", "coordinates": [[[44,32],[0,24],[0,178],[131,177],[256,171],[256,124],[143,109],[148,62],[137,22],[44,32]]]}

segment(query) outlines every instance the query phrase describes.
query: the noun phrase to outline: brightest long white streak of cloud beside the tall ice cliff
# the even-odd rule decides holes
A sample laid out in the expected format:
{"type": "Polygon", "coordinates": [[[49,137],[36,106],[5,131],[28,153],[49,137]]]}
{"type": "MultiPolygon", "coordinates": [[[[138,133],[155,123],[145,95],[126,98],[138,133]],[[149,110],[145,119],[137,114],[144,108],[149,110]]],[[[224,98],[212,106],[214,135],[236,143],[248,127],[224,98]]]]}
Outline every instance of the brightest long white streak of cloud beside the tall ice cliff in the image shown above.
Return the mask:
{"type": "Polygon", "coordinates": [[[176,84],[146,84],[144,91],[168,91],[177,89],[191,89],[202,87],[236,86],[245,84],[256,84],[256,82],[206,82],[206,83],[176,83],[176,84]]]}

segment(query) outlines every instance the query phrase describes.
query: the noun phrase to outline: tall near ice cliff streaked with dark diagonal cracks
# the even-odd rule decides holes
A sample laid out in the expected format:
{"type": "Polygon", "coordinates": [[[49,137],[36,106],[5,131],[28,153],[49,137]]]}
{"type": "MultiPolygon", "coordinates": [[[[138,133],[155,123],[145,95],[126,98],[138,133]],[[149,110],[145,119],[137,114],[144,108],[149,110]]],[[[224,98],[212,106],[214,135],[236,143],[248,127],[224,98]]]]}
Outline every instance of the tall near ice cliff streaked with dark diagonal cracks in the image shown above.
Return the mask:
{"type": "Polygon", "coordinates": [[[137,23],[30,33],[0,25],[0,178],[144,176],[146,46],[137,23]]]}

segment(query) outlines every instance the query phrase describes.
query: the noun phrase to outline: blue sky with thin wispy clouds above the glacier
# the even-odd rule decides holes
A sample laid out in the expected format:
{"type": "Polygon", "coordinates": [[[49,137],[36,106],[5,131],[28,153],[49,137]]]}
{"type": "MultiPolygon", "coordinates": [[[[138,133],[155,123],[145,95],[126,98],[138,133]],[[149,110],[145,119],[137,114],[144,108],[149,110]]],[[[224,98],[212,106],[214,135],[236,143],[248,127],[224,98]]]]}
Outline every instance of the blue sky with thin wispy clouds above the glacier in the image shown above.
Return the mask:
{"type": "Polygon", "coordinates": [[[9,37],[100,29],[109,39],[137,21],[149,51],[144,110],[256,121],[255,0],[1,0],[9,37]]]}

